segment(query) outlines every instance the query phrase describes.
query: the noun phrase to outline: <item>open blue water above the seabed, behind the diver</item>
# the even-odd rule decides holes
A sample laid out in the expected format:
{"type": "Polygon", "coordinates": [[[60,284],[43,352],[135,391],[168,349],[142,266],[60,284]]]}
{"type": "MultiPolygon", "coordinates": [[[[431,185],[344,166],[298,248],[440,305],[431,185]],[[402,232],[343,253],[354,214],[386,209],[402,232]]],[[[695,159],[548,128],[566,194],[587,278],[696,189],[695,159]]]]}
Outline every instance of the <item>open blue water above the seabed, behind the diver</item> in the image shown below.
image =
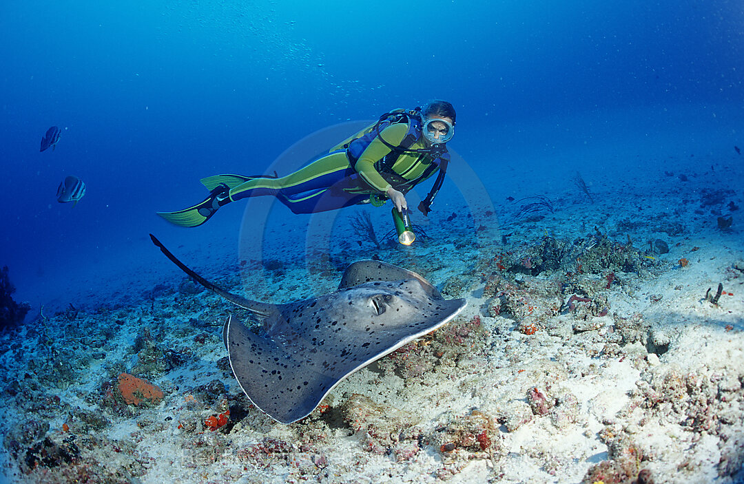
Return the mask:
{"type": "Polygon", "coordinates": [[[450,144],[494,200],[577,168],[736,162],[742,5],[3,1],[0,265],[35,307],[112,277],[142,291],[148,271],[175,274],[149,232],[237,253],[242,206],[190,230],[155,216],[199,201],[199,178],[263,172],[318,129],[434,97],[458,110],[450,144]],[[39,152],[55,125],[57,149],[39,152]],[[65,175],[87,184],[76,207],[57,203],[65,175]]]}

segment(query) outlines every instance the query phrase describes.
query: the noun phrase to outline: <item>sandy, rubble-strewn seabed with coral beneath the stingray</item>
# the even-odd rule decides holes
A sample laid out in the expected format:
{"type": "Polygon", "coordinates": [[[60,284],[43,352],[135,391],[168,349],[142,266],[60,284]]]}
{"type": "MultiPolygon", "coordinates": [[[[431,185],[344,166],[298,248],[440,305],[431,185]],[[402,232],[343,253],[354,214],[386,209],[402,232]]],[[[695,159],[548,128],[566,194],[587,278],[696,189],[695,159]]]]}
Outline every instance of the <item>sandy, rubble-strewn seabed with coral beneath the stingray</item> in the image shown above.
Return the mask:
{"type": "MultiPolygon", "coordinates": [[[[545,199],[478,214],[487,220],[478,226],[467,207],[437,206],[415,256],[349,228],[310,271],[278,251],[246,297],[333,291],[345,264],[379,256],[468,302],[292,425],[252,407],[226,363],[220,325],[247,314],[186,277],[144,288],[142,302],[42,314],[0,336],[4,474],[17,483],[744,482],[742,164],[733,175],[700,165],[622,183],[597,176],[592,201],[565,181],[545,199]],[[139,399],[124,373],[146,380],[139,399]]],[[[243,291],[223,269],[215,282],[243,291]]]]}

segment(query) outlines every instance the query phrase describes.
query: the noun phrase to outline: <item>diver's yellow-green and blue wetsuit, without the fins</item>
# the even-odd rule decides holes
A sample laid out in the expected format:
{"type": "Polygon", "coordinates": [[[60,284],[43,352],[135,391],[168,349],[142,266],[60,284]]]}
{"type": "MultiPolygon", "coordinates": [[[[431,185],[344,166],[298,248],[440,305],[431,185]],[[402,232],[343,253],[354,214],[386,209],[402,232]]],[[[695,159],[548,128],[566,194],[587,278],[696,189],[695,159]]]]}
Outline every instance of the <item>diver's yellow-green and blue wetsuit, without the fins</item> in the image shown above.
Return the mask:
{"type": "MultiPolygon", "coordinates": [[[[408,123],[388,126],[380,134],[385,141],[399,146],[408,131],[408,123]]],[[[423,148],[421,140],[409,149],[423,148]]],[[[391,167],[385,156],[391,149],[374,138],[353,167],[346,150],[336,149],[307,166],[281,178],[254,178],[231,187],[230,199],[274,195],[293,213],[336,210],[369,199],[373,193],[385,194],[389,187],[400,192],[411,190],[438,170],[429,154],[404,152],[391,167]]]]}

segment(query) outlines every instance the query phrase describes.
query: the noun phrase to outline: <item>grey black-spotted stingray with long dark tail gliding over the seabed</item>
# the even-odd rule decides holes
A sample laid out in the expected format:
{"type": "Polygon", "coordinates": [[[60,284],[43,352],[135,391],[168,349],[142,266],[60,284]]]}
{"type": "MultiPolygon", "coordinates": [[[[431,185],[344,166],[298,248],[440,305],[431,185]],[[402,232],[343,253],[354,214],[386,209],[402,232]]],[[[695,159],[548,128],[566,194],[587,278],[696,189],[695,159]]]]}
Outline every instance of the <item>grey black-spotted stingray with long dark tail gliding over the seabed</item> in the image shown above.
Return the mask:
{"type": "Polygon", "coordinates": [[[260,303],[218,288],[150,237],[200,284],[263,319],[256,334],[229,317],[222,336],[243,392],[283,424],[309,415],[348,375],[434,331],[466,305],[444,299],[420,275],[376,260],[350,264],[330,294],[260,303]]]}

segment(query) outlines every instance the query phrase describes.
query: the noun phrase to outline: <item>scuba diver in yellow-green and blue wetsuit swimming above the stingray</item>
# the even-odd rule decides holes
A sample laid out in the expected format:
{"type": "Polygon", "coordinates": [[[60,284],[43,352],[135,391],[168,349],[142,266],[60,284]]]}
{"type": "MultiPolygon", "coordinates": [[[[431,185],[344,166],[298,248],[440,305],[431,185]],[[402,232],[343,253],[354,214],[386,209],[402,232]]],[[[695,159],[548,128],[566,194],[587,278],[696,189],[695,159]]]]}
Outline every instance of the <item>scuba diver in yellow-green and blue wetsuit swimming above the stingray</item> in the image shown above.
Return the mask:
{"type": "Polygon", "coordinates": [[[209,196],[193,207],[158,212],[175,225],[196,227],[219,207],[252,196],[277,197],[293,213],[336,210],[353,204],[381,207],[390,199],[408,212],[405,194],[439,170],[418,208],[428,215],[449,163],[446,142],[455,129],[455,109],[443,100],[423,108],[395,109],[301,169],[283,177],[214,175],[202,178],[209,196]]]}

